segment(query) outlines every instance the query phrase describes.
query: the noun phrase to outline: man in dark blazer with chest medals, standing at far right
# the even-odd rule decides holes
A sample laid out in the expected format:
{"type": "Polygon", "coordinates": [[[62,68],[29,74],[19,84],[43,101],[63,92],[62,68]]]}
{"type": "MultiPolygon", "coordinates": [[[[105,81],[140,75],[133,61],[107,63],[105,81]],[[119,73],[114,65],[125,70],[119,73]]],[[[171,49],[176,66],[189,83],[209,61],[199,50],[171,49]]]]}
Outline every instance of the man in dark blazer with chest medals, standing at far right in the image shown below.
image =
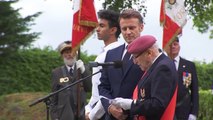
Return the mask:
{"type": "Polygon", "coordinates": [[[176,38],[169,49],[168,56],[175,62],[178,71],[178,96],[176,117],[178,120],[196,120],[198,116],[198,79],[195,64],[179,56],[179,38],[176,38]]]}

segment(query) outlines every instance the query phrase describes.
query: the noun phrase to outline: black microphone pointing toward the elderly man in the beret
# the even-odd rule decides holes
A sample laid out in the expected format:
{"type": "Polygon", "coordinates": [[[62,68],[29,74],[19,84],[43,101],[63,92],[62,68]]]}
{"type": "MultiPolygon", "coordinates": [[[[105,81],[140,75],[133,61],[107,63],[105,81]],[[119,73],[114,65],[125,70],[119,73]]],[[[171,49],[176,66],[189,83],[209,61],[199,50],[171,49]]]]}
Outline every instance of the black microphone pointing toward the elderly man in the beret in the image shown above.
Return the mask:
{"type": "Polygon", "coordinates": [[[98,62],[89,62],[90,67],[108,67],[108,66],[114,66],[114,68],[121,68],[123,65],[122,61],[114,61],[114,62],[105,62],[105,63],[98,63],[98,62]]]}

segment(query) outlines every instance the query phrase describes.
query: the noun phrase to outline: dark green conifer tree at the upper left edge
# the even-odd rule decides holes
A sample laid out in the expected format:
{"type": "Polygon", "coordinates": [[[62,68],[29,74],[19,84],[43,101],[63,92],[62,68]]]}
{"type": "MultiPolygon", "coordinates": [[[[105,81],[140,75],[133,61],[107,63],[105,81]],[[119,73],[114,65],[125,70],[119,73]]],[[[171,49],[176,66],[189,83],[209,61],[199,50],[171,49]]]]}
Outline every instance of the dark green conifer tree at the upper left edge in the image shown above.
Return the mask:
{"type": "Polygon", "coordinates": [[[13,54],[19,48],[25,48],[38,38],[40,33],[30,33],[30,26],[41,12],[22,17],[19,9],[14,9],[11,4],[18,0],[0,1],[0,59],[7,54],[13,54]]]}

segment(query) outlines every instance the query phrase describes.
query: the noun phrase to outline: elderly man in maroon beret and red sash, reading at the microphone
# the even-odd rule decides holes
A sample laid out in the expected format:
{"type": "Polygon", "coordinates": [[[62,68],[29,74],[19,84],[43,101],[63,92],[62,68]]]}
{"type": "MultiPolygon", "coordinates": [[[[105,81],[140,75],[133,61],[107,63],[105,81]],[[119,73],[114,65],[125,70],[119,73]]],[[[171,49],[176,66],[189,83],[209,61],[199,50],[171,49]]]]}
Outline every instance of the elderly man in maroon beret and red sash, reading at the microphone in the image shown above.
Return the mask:
{"type": "Polygon", "coordinates": [[[133,99],[112,101],[124,110],[130,110],[130,115],[137,120],[174,119],[177,72],[173,61],[159,52],[156,41],[155,37],[144,35],[129,44],[128,52],[134,63],[146,72],[135,88],[133,99]]]}

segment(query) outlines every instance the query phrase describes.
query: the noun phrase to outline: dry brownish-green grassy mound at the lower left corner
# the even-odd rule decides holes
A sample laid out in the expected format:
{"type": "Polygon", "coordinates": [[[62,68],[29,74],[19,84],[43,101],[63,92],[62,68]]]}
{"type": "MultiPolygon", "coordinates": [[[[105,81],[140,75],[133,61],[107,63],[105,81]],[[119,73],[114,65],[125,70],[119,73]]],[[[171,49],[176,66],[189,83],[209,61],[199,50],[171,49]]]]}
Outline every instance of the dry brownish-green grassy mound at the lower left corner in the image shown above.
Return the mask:
{"type": "Polygon", "coordinates": [[[46,106],[40,102],[32,107],[32,101],[46,93],[15,93],[0,97],[0,120],[45,120],[46,106]]]}

